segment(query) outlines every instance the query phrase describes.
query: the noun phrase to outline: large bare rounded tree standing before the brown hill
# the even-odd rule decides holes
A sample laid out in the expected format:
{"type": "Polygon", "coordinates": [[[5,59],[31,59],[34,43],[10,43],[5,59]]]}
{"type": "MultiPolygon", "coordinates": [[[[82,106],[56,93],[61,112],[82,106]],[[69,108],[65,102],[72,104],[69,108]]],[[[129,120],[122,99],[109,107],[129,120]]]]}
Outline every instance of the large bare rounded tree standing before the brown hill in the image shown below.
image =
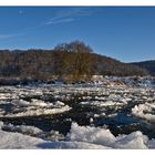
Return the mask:
{"type": "Polygon", "coordinates": [[[66,74],[72,74],[74,80],[81,80],[94,74],[93,50],[81,41],[74,41],[69,44],[59,44],[55,50],[68,52],[63,54],[63,65],[66,74]]]}

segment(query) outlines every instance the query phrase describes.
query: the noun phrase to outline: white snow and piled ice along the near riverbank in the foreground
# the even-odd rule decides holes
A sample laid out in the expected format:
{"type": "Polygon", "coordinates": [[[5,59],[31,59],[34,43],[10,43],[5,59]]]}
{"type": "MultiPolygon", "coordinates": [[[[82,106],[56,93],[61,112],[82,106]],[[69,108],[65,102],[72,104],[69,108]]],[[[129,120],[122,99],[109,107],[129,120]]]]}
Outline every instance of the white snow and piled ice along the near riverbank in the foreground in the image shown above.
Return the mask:
{"type": "Polygon", "coordinates": [[[72,123],[64,142],[43,141],[1,130],[0,137],[0,148],[155,148],[155,140],[148,140],[140,131],[115,137],[107,128],[79,126],[76,123],[72,123]]]}

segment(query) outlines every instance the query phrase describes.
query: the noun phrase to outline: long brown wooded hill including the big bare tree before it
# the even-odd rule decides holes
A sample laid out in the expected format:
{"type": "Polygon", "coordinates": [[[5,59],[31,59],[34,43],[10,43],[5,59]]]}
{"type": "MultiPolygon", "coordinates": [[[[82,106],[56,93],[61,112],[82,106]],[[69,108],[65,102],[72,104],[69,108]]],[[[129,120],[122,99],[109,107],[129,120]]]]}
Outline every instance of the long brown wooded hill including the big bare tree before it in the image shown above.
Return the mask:
{"type": "Polygon", "coordinates": [[[100,75],[147,75],[137,65],[120,62],[96,54],[83,42],[58,45],[53,50],[0,51],[1,78],[31,78],[79,80],[93,74],[100,75]]]}

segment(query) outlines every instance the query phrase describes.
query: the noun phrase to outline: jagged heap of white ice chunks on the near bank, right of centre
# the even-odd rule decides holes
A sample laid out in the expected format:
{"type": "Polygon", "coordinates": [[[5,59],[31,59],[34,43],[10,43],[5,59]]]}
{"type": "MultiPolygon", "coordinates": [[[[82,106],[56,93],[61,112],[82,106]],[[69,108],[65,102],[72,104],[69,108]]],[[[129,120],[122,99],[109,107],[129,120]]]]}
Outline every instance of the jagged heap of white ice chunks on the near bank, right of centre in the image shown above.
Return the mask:
{"type": "Polygon", "coordinates": [[[110,130],[90,126],[79,126],[73,123],[71,131],[68,134],[68,140],[93,143],[112,148],[148,148],[153,146],[154,141],[148,141],[148,137],[142,132],[133,132],[128,135],[114,136],[110,130]],[[149,145],[148,145],[149,144],[149,145]]]}

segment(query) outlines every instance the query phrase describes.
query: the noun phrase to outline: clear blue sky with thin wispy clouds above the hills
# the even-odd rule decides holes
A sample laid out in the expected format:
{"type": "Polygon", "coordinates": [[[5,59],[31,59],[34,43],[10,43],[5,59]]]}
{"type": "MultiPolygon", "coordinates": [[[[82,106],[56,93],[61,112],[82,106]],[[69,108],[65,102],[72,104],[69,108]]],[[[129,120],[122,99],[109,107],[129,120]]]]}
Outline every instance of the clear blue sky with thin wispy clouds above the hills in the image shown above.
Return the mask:
{"type": "Polygon", "coordinates": [[[84,41],[123,62],[155,59],[155,7],[0,7],[0,49],[84,41]]]}

